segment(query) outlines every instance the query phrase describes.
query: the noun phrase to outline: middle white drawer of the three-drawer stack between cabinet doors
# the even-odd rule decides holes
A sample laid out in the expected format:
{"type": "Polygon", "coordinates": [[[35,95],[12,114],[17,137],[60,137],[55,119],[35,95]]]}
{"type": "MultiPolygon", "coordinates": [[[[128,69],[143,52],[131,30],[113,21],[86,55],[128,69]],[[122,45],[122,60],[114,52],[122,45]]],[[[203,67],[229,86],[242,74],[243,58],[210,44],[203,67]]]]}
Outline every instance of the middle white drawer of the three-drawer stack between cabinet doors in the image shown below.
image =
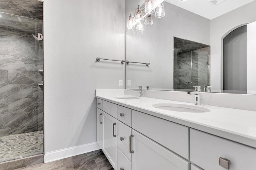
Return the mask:
{"type": "Polygon", "coordinates": [[[130,135],[132,135],[132,129],[130,127],[128,127],[127,125],[125,125],[124,123],[117,121],[117,147],[131,161],[132,154],[130,154],[130,148],[129,148],[130,147],[130,143],[129,143],[130,135]]]}

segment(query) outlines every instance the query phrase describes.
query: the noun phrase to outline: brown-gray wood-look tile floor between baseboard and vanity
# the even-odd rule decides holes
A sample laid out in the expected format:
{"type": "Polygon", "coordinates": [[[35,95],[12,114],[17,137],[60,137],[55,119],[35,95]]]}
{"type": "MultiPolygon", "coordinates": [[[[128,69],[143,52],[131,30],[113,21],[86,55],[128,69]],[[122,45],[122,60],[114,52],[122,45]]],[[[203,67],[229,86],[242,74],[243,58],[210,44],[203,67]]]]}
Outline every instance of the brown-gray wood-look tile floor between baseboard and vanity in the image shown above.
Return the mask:
{"type": "Polygon", "coordinates": [[[54,162],[36,164],[16,170],[114,170],[102,152],[96,150],[54,162]]]}

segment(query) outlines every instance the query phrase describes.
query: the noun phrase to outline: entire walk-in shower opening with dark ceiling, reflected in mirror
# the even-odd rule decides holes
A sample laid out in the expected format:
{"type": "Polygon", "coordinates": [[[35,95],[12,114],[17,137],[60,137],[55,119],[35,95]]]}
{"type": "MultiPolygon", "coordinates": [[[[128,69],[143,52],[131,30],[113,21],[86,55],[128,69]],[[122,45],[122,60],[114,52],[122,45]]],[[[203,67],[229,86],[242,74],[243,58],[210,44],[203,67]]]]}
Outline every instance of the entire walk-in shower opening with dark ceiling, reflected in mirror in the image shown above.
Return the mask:
{"type": "Polygon", "coordinates": [[[174,89],[210,86],[210,46],[174,37],[174,89]]]}

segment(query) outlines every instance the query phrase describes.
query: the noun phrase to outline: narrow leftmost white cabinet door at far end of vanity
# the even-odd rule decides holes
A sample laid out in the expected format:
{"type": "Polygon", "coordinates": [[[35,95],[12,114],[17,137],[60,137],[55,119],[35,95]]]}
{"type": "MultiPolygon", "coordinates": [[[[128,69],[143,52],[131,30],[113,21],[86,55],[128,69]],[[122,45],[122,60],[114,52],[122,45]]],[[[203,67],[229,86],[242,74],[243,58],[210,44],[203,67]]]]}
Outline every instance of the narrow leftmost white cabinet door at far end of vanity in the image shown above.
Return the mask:
{"type": "Polygon", "coordinates": [[[97,108],[97,141],[103,149],[103,111],[97,108]]]}

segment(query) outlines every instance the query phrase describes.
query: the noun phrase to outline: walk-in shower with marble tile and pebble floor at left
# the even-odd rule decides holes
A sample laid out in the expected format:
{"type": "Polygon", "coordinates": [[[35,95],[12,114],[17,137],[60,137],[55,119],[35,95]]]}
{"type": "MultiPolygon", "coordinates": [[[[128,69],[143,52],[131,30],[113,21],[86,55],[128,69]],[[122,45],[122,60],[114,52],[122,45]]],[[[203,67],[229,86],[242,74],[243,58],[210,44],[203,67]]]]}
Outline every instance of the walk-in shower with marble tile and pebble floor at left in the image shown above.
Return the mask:
{"type": "Polygon", "coordinates": [[[0,162],[43,153],[43,41],[38,33],[43,33],[43,2],[0,2],[0,162]]]}

